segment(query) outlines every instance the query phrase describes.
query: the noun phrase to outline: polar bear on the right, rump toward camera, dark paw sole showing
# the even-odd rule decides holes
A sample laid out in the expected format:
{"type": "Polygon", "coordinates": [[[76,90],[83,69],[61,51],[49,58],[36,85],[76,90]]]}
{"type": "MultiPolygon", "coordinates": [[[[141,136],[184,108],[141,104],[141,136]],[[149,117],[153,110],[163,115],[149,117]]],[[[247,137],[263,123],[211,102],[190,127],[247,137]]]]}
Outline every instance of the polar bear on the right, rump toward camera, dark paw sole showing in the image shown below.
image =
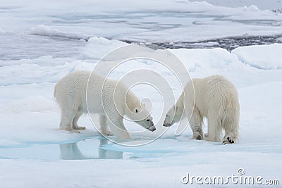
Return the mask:
{"type": "Polygon", "coordinates": [[[176,104],[166,114],[164,126],[180,121],[181,116],[190,118],[193,139],[203,139],[203,117],[208,121],[206,140],[234,143],[239,136],[240,105],[235,86],[221,75],[192,79],[186,84],[176,104]],[[193,89],[195,93],[193,92],[193,89]],[[195,94],[195,95],[194,95],[195,94]]]}

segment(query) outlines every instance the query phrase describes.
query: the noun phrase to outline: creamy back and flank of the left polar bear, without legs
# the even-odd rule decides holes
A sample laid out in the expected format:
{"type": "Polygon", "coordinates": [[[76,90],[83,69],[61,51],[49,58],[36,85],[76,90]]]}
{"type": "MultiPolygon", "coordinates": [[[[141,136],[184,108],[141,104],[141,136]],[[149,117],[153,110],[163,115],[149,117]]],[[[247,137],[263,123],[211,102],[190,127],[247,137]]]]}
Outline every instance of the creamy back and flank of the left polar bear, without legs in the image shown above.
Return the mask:
{"type": "MultiPolygon", "coordinates": [[[[63,77],[56,84],[54,96],[61,108],[75,108],[75,110],[78,108],[78,111],[87,113],[88,107],[90,113],[104,113],[102,94],[104,99],[112,98],[114,92],[123,94],[124,87],[121,83],[117,84],[115,80],[105,80],[104,77],[81,70],[63,77]],[[104,89],[103,92],[102,89],[104,89]]],[[[112,100],[104,101],[108,103],[106,105],[114,105],[112,100]]],[[[123,108],[123,106],[120,107],[123,108]]]]}

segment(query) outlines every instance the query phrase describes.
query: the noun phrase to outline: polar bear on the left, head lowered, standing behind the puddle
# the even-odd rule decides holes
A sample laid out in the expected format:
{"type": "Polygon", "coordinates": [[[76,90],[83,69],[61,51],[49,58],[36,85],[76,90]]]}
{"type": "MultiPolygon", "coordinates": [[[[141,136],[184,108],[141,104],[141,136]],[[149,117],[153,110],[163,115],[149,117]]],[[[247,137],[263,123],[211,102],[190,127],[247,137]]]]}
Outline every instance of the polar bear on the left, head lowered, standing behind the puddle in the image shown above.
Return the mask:
{"type": "Polygon", "coordinates": [[[99,114],[102,134],[114,134],[122,139],[130,138],[123,125],[124,115],[147,130],[156,130],[147,108],[125,84],[89,71],[76,71],[63,77],[55,86],[54,97],[61,108],[60,130],[85,130],[78,126],[82,113],[99,114]]]}

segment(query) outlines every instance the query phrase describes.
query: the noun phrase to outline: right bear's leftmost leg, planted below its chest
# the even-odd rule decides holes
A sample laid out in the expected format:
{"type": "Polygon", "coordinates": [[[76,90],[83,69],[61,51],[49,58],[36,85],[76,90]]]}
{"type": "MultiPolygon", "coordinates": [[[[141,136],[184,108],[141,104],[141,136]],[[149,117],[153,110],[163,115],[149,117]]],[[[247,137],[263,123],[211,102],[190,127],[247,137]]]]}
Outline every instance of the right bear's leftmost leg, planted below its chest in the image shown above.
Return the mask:
{"type": "Polygon", "coordinates": [[[193,112],[189,123],[190,123],[191,129],[192,129],[192,132],[193,132],[192,139],[203,139],[202,117],[201,117],[199,111],[197,111],[196,109],[193,112]]]}

